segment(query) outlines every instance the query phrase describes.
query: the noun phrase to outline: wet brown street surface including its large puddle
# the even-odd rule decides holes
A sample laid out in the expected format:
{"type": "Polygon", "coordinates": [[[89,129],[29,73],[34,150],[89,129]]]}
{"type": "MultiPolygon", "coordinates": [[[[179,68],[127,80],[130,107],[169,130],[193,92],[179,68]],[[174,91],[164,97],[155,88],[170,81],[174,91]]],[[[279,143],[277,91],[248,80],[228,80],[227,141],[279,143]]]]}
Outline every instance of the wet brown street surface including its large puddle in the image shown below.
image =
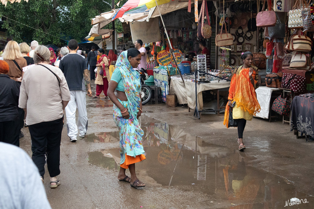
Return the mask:
{"type": "MultiPolygon", "coordinates": [[[[92,90],[95,95],[94,84],[92,90]]],[[[134,189],[117,180],[119,134],[112,102],[87,97],[86,103],[84,138],[70,142],[65,119],[56,189],[50,189],[46,169],[52,208],[314,208],[314,142],[296,139],[280,118],[248,121],[246,150],[239,152],[237,130],[223,125],[224,114],[198,120],[180,106],[144,105],[146,160],[136,163],[136,171],[146,187],[134,189]]],[[[31,156],[28,128],[22,131],[20,147],[31,156]]]]}

